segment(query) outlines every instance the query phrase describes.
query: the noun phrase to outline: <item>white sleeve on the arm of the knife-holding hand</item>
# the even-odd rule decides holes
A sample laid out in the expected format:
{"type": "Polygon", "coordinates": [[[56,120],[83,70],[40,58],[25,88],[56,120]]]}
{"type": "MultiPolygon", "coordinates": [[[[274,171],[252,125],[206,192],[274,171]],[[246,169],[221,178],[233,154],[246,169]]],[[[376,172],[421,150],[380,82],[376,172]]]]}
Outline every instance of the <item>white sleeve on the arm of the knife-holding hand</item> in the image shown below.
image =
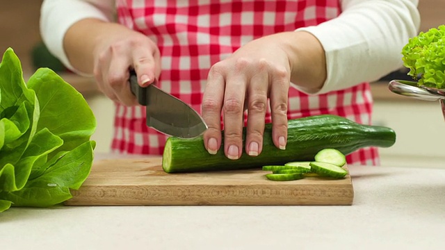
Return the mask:
{"type": "Polygon", "coordinates": [[[113,0],[44,0],[40,8],[40,33],[49,51],[66,67],[76,72],[63,49],[68,28],[85,18],[111,21],[113,0]]]}

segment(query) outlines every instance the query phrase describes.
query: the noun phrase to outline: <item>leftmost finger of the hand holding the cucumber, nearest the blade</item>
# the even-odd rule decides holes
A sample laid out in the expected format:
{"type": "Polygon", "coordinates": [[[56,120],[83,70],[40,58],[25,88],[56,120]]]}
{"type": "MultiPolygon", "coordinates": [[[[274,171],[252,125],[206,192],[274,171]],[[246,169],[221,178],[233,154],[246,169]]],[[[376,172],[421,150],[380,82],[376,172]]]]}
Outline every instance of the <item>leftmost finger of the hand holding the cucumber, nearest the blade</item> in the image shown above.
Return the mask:
{"type": "Polygon", "coordinates": [[[208,126],[204,133],[204,147],[213,155],[221,147],[221,109],[223,108],[224,91],[224,76],[212,67],[202,97],[202,118],[208,126]]]}

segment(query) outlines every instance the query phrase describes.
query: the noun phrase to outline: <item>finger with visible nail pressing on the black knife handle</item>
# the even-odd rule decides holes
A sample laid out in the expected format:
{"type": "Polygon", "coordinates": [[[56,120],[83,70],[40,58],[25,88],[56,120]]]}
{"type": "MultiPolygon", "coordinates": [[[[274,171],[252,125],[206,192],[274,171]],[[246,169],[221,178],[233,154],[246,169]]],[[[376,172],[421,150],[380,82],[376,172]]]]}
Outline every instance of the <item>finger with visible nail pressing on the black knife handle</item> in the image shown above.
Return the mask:
{"type": "Polygon", "coordinates": [[[138,46],[133,49],[133,67],[136,76],[138,76],[138,83],[142,87],[154,82],[156,67],[154,60],[155,53],[150,47],[138,46]]]}

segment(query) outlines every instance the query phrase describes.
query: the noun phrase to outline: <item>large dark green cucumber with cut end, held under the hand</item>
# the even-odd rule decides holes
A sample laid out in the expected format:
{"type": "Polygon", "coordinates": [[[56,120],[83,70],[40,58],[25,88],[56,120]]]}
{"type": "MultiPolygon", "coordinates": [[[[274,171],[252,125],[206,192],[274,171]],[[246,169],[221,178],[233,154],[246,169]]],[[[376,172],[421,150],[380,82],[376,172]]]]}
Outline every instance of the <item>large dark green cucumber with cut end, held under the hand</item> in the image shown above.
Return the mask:
{"type": "Polygon", "coordinates": [[[337,115],[317,115],[288,121],[285,150],[275,147],[272,124],[266,124],[261,154],[248,156],[243,150],[238,160],[225,156],[224,144],[216,155],[209,154],[202,136],[192,139],[170,137],[165,143],[162,167],[167,173],[252,169],[293,161],[313,161],[316,153],[325,148],[337,149],[346,156],[363,147],[391,147],[395,142],[396,133],[391,128],[357,124],[337,115]]]}

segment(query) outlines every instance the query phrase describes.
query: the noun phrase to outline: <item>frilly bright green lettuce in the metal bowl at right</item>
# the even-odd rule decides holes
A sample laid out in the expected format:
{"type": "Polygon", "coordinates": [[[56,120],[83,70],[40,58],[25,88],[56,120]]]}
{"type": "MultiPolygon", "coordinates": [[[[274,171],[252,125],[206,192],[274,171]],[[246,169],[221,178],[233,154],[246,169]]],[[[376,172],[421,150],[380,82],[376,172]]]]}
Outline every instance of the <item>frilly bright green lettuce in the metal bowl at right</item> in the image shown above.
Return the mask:
{"type": "Polygon", "coordinates": [[[445,25],[410,38],[402,55],[408,75],[419,78],[419,85],[445,88],[445,25]]]}

